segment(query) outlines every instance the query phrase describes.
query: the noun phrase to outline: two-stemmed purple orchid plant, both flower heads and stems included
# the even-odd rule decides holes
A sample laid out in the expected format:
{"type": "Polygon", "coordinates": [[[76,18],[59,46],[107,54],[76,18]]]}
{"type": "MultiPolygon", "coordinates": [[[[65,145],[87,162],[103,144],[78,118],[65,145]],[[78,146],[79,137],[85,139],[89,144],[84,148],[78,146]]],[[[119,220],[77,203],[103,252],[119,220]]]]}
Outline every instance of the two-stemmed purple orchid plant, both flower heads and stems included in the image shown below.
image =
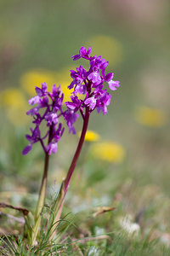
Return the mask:
{"type": "Polygon", "coordinates": [[[73,90],[71,93],[71,101],[65,102],[65,108],[63,107],[64,95],[60,86],[53,85],[52,93],[48,92],[48,86],[46,83],[42,83],[42,87],[36,87],[37,96],[32,97],[29,100],[29,104],[33,108],[27,111],[26,114],[31,115],[33,118],[32,123],[35,128],[31,128],[31,135],[26,135],[26,139],[29,144],[24,148],[22,154],[28,154],[32,148],[32,145],[39,142],[42,145],[42,149],[45,154],[44,171],[42,175],[42,185],[39,192],[39,199],[37,202],[37,210],[34,218],[33,229],[31,230],[31,245],[34,245],[37,240],[38,230],[41,224],[41,212],[44,207],[46,186],[48,178],[48,161],[50,154],[57,152],[58,143],[63,135],[64,127],[63,122],[69,128],[69,133],[76,133],[74,123],[77,118],[82,116],[82,133],[77,145],[76,152],[71,161],[71,166],[66,174],[63,183],[61,184],[59,194],[54,201],[53,213],[54,218],[50,219],[51,226],[49,240],[51,240],[57,230],[57,224],[59,223],[60,215],[65,201],[65,195],[69,189],[71,183],[71,176],[77,166],[77,160],[81,153],[82,144],[88,129],[88,120],[90,114],[96,109],[97,112],[107,113],[107,107],[111,102],[110,90],[116,90],[120,84],[119,81],[114,81],[114,73],[106,73],[105,69],[109,65],[108,61],[102,59],[101,56],[91,56],[91,47],[85,49],[82,47],[79,50],[78,55],[73,55],[73,61],[78,59],[85,59],[89,63],[88,70],[82,65],[77,67],[77,70],[71,70],[72,82],[68,86],[69,90],[73,90]],[[107,84],[105,86],[105,84],[107,84]],[[81,97],[80,97],[81,96],[81,97]],[[63,118],[63,121],[61,121],[63,118]],[[41,132],[42,122],[46,122],[47,131],[44,135],[41,132]]]}

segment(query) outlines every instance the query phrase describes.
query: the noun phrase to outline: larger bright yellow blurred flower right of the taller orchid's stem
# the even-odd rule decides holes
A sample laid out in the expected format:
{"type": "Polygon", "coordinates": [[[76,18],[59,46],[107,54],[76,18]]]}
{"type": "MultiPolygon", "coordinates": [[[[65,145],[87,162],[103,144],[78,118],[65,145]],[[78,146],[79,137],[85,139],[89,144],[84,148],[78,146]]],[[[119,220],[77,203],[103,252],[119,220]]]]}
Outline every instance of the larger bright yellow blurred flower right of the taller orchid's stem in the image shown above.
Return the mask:
{"type": "Polygon", "coordinates": [[[125,157],[125,150],[119,143],[95,143],[91,147],[91,152],[95,158],[108,162],[119,163],[125,157]]]}

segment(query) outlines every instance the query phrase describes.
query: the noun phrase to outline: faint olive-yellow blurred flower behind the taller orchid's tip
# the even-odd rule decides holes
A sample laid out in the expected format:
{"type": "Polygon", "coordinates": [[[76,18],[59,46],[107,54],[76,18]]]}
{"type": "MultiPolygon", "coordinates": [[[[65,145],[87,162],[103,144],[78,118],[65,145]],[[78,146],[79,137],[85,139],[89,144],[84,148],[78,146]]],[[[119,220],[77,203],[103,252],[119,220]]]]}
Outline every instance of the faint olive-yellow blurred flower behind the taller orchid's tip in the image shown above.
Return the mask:
{"type": "Polygon", "coordinates": [[[95,55],[101,55],[110,65],[119,65],[123,60],[122,44],[116,38],[105,35],[96,35],[88,38],[86,46],[92,47],[92,52],[95,55]]]}

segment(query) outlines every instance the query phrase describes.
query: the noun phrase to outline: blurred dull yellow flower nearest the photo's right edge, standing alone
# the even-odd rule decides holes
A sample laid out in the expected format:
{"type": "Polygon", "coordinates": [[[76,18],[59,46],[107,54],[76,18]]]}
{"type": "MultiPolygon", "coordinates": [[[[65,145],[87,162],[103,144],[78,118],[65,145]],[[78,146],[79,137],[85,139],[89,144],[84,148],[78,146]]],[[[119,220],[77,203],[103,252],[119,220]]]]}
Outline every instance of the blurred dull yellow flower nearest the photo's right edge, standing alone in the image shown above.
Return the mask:
{"type": "Polygon", "coordinates": [[[156,108],[140,107],[135,112],[135,118],[141,125],[160,127],[166,124],[166,114],[156,108]]]}

